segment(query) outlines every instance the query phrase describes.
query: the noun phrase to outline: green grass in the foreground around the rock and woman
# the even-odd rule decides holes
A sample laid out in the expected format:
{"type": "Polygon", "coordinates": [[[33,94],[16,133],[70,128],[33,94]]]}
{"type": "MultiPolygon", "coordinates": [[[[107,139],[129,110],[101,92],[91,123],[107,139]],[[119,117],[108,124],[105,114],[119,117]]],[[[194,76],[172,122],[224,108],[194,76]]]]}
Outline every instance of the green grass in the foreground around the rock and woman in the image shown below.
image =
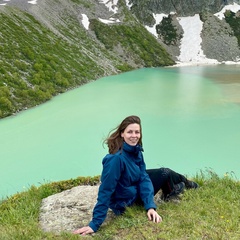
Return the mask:
{"type": "MultiPolygon", "coordinates": [[[[135,206],[85,239],[240,239],[240,182],[233,176],[219,177],[213,172],[197,174],[193,179],[200,188],[185,191],[180,203],[158,203],[162,223],[148,221],[145,210],[135,206]]],[[[99,176],[79,177],[32,186],[2,201],[0,239],[81,239],[66,232],[60,235],[42,232],[38,225],[41,200],[73,186],[94,185],[98,181],[99,176]]]]}

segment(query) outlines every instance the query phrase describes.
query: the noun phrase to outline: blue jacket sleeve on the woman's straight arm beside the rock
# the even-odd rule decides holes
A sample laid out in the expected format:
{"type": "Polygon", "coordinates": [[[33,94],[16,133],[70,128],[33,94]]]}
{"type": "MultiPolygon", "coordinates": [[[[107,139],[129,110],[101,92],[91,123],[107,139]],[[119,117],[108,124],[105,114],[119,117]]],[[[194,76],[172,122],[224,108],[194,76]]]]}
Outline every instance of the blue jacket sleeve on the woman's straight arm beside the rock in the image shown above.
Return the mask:
{"type": "Polygon", "coordinates": [[[98,191],[97,203],[93,210],[93,218],[89,226],[96,232],[107,216],[112,194],[120,179],[122,162],[117,155],[107,155],[103,159],[101,185],[98,191]]]}

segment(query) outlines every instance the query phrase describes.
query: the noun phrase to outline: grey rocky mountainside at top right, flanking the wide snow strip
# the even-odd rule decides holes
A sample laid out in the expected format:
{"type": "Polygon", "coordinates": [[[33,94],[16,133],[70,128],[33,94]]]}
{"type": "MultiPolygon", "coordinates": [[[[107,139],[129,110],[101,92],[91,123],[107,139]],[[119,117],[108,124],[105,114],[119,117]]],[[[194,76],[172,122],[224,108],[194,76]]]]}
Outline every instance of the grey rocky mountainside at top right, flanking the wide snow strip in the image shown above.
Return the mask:
{"type": "Polygon", "coordinates": [[[239,0],[131,0],[130,2],[131,12],[143,25],[156,27],[160,43],[174,60],[178,60],[184,34],[179,24],[180,19],[194,15],[199,15],[203,23],[201,48],[206,58],[216,59],[218,62],[240,60],[240,6],[237,5],[240,4],[239,0]],[[231,10],[225,11],[225,18],[219,19],[216,13],[226,6],[231,6],[230,9],[234,8],[237,11],[235,13],[231,10]],[[159,22],[156,16],[162,14],[165,16],[159,22]]]}

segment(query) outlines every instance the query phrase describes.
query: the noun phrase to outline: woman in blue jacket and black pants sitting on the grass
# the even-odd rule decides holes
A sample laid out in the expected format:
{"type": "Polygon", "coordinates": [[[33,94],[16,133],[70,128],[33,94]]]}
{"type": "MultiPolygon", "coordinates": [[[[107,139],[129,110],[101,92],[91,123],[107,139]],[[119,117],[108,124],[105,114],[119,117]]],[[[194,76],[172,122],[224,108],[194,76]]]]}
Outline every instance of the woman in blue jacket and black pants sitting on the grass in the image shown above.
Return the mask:
{"type": "Polygon", "coordinates": [[[162,188],[164,199],[167,199],[181,193],[185,185],[194,185],[184,176],[167,168],[146,171],[142,155],[141,120],[137,116],[125,118],[105,142],[109,154],[102,161],[101,185],[93,218],[88,226],[75,230],[75,234],[96,232],[109,208],[120,215],[134,203],[143,204],[148,219],[159,223],[162,218],[156,212],[154,194],[162,188]]]}

